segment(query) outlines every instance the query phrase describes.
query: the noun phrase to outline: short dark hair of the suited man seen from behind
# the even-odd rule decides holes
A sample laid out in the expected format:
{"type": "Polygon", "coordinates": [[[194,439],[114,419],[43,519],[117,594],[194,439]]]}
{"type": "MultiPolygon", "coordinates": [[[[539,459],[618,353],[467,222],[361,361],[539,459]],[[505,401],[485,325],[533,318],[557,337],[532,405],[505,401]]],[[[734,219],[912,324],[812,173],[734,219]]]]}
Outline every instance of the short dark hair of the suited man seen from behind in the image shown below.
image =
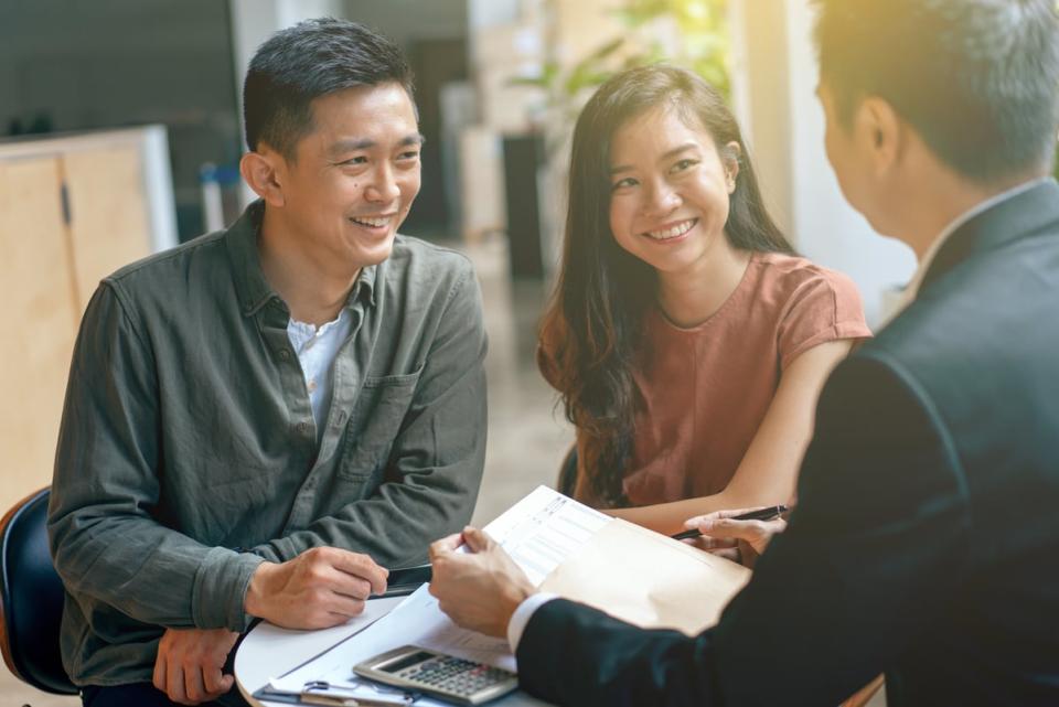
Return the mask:
{"type": "Polygon", "coordinates": [[[814,0],[821,79],[846,127],[878,96],[964,176],[1047,169],[1059,126],[1056,0],[814,0]]]}

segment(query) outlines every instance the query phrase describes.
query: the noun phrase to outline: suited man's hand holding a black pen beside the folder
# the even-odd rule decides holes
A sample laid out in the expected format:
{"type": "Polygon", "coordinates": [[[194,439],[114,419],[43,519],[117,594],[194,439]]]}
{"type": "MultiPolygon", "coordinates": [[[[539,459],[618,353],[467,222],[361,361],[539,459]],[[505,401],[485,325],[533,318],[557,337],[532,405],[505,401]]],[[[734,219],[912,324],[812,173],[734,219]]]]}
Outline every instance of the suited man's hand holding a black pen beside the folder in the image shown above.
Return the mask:
{"type": "Polygon", "coordinates": [[[688,529],[673,537],[694,538],[693,544],[699,549],[752,567],[772,536],[787,528],[787,521],[781,517],[787,511],[783,505],[717,511],[688,518],[684,523],[688,529]]]}

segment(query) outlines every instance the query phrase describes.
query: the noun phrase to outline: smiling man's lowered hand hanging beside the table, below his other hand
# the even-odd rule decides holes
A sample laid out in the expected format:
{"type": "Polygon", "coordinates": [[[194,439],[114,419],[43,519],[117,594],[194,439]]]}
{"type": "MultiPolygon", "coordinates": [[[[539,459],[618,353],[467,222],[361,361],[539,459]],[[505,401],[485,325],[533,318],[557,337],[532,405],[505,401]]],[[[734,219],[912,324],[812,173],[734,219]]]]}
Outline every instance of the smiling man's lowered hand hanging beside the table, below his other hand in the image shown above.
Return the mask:
{"type": "Polygon", "coordinates": [[[158,642],[154,687],[180,705],[211,701],[232,689],[224,661],[238,633],[227,629],[167,629],[158,642]]]}

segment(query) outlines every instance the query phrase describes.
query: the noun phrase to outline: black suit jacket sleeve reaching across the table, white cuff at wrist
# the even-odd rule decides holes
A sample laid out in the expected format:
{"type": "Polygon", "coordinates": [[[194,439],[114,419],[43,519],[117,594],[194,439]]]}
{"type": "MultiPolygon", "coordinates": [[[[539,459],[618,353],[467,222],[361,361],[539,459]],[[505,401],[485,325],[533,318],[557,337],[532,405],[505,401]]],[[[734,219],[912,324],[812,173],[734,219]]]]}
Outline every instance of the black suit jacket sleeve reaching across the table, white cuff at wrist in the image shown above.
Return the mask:
{"type": "Polygon", "coordinates": [[[518,645],[520,679],[561,705],[838,704],[930,630],[969,525],[959,460],[918,383],[855,355],[822,394],[788,531],[715,629],[640,631],[549,602],[518,645]]]}

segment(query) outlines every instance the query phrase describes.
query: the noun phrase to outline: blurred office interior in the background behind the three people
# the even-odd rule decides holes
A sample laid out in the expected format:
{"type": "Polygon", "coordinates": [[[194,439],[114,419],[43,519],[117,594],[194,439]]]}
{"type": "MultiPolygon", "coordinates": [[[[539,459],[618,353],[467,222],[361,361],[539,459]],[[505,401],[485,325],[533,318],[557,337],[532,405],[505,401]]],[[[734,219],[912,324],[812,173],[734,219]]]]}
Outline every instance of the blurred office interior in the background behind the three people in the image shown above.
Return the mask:
{"type": "MultiPolygon", "coordinates": [[[[664,60],[721,88],[773,215],[799,250],[856,281],[870,324],[914,269],[910,250],[845,204],[827,167],[806,0],[4,0],[0,511],[50,482],[96,282],[239,214],[253,196],[237,171],[246,64],[271,32],[321,15],[406,51],[427,147],[403,232],[478,267],[491,350],[477,523],[550,483],[573,439],[533,364],[536,325],[573,121],[613,72],[664,60]]],[[[11,704],[72,704],[20,689],[0,676],[11,704]]]]}

